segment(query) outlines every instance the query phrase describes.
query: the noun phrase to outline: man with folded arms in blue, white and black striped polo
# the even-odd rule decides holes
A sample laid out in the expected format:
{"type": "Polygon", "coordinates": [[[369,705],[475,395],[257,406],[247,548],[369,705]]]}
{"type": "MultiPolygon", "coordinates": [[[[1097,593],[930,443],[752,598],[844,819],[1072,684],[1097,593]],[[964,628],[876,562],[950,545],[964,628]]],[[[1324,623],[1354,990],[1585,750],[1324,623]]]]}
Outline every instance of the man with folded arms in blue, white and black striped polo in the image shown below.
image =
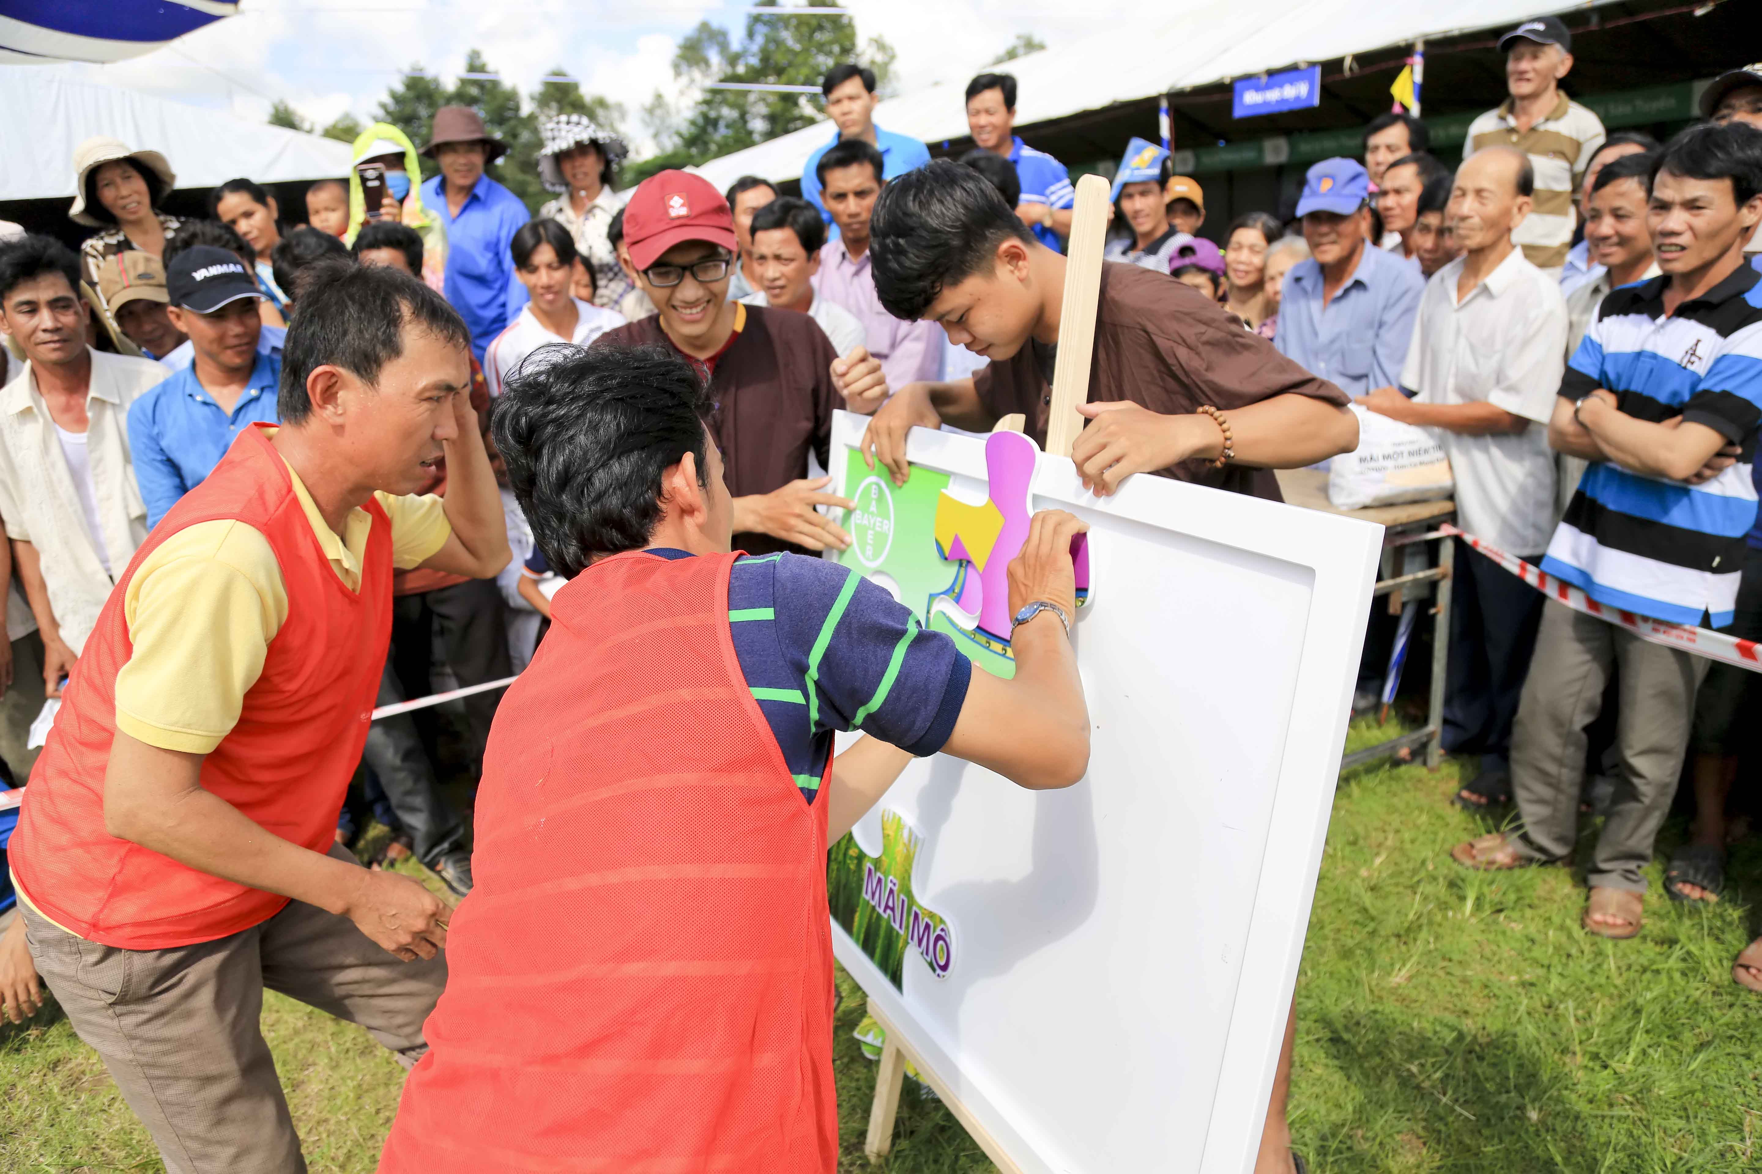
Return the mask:
{"type": "MultiPolygon", "coordinates": [[[[1762,275],[1743,245],[1762,220],[1762,132],[1692,127],[1653,165],[1647,224],[1662,276],[1612,290],[1566,366],[1549,440],[1591,461],[1542,569],[1609,607],[1732,623],[1762,422],[1762,275]]],[[[1584,729],[1621,665],[1625,785],[1593,848],[1584,928],[1640,931],[1642,869],[1676,794],[1707,660],[1547,607],[1512,737],[1510,834],[1459,845],[1468,868],[1558,862],[1577,840],[1584,729]]]]}

